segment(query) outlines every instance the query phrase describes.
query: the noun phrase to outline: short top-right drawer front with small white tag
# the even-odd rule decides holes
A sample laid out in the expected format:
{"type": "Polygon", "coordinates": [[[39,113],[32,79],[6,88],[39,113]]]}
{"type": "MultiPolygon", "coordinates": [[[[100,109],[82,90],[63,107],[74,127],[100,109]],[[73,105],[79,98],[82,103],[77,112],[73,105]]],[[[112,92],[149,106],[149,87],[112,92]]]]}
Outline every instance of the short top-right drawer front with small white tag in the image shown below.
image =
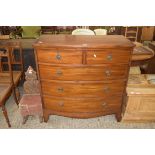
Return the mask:
{"type": "Polygon", "coordinates": [[[87,64],[128,63],[130,60],[130,53],[130,51],[117,49],[88,51],[87,64]]]}

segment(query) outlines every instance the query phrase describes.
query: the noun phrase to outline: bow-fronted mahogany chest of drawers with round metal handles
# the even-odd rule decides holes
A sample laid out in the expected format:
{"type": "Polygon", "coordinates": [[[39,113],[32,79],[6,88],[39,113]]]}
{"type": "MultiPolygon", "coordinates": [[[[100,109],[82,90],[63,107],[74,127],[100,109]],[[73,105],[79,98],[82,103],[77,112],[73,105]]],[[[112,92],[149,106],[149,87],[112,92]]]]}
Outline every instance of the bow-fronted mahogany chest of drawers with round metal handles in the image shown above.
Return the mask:
{"type": "Polygon", "coordinates": [[[34,48],[45,122],[51,114],[119,121],[133,47],[118,35],[40,37],[34,48]]]}

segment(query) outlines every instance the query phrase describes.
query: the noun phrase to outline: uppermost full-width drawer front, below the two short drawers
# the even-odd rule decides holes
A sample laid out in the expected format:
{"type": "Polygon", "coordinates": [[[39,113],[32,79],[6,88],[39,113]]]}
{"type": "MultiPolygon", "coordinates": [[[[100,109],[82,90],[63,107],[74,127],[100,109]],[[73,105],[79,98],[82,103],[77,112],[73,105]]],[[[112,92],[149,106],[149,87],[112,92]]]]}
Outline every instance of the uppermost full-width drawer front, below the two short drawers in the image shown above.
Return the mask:
{"type": "Polygon", "coordinates": [[[52,67],[39,65],[40,78],[48,80],[114,80],[126,78],[128,65],[104,65],[103,67],[52,67]]]}

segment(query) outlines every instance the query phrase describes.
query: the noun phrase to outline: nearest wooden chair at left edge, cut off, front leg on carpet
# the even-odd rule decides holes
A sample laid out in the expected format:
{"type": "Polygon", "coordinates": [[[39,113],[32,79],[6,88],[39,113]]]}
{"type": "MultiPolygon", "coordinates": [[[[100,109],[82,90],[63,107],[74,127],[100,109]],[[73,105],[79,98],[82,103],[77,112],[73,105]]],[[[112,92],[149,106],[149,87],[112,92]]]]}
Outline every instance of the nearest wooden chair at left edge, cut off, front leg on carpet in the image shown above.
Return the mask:
{"type": "MultiPolygon", "coordinates": [[[[9,64],[9,72],[8,72],[8,77],[7,77],[7,82],[0,82],[0,107],[2,108],[4,117],[6,119],[6,122],[8,124],[8,127],[11,127],[9,118],[8,118],[8,114],[7,114],[7,110],[5,108],[5,103],[7,101],[7,99],[11,96],[12,92],[14,95],[14,100],[16,102],[16,104],[18,105],[18,100],[17,100],[17,96],[16,96],[16,92],[15,92],[15,85],[14,85],[14,81],[13,81],[13,72],[12,72],[12,67],[11,67],[11,50],[10,48],[6,48],[6,54],[4,55],[5,57],[8,57],[8,64],[9,64]]],[[[0,61],[1,58],[3,57],[3,53],[0,53],[0,61]]],[[[1,67],[1,65],[0,65],[1,67]]],[[[2,69],[0,69],[2,70],[2,69]]],[[[5,75],[3,76],[3,73],[0,73],[0,80],[4,78],[5,79],[5,75]]]]}

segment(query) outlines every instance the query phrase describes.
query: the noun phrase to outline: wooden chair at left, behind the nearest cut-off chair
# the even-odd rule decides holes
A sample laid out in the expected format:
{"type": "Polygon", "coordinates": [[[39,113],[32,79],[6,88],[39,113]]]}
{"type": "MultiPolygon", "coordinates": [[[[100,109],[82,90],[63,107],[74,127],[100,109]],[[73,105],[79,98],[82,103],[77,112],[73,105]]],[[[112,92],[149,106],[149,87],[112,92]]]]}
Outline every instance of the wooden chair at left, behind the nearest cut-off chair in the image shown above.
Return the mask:
{"type": "MultiPolygon", "coordinates": [[[[17,52],[17,51],[16,51],[17,52]]],[[[0,44],[0,84],[10,84],[10,69],[12,70],[12,77],[13,77],[13,93],[16,102],[19,100],[19,90],[18,90],[18,84],[20,80],[23,77],[23,59],[22,59],[22,51],[21,47],[18,46],[18,44],[15,43],[12,44],[10,42],[2,43],[0,44]],[[14,57],[14,50],[18,48],[19,49],[19,59],[17,62],[14,57]],[[5,59],[5,62],[2,62],[2,60],[5,59]],[[14,66],[18,64],[20,66],[20,70],[14,70],[14,66]]]]}

